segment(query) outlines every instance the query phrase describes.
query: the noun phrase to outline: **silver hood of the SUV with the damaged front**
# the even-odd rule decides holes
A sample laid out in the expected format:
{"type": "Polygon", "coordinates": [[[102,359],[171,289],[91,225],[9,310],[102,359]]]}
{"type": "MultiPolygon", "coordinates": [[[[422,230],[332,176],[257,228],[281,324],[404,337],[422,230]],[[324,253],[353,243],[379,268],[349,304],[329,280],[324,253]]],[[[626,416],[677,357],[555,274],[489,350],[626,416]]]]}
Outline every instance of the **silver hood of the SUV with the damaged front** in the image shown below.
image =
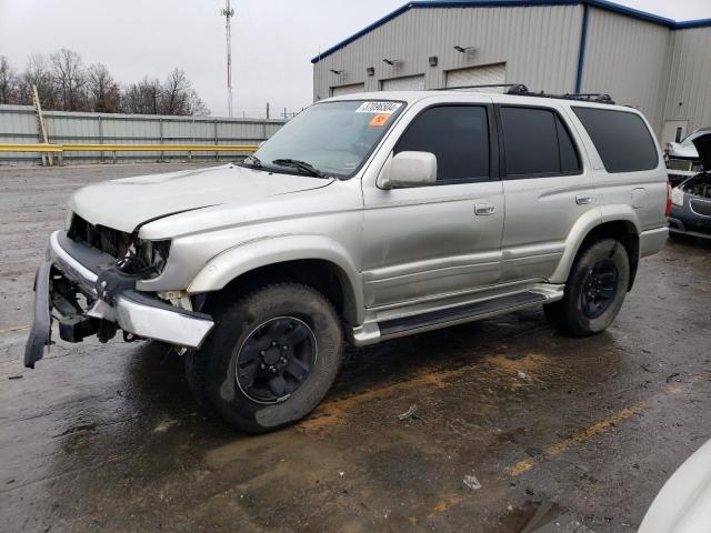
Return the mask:
{"type": "Polygon", "coordinates": [[[320,189],[333,180],[278,174],[234,164],[124,178],[84,187],[69,208],[94,225],[132,232],[138,225],[186,211],[320,189]]]}

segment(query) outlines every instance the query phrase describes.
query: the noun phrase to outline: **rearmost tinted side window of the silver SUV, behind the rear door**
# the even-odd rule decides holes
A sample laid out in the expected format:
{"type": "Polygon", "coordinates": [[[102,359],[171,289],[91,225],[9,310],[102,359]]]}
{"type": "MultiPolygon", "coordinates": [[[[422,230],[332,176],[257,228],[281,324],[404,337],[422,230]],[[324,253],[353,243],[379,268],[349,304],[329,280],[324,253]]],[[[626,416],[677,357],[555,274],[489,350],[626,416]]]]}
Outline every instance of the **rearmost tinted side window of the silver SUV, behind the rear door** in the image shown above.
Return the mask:
{"type": "Polygon", "coordinates": [[[635,113],[572,108],[592,139],[608,172],[652,170],[659,154],[644,121],[635,113]]]}

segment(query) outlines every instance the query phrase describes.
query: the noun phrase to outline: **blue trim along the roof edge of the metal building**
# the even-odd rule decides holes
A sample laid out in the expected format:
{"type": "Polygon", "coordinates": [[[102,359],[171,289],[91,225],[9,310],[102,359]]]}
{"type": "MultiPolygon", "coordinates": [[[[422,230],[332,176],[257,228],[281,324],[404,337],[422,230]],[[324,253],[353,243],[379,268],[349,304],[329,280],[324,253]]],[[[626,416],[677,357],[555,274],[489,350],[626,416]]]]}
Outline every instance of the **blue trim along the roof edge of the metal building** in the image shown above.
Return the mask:
{"type": "MultiPolygon", "coordinates": [[[[367,26],[358,33],[349,37],[348,39],[339,42],[334,47],[329,48],[324,52],[320,53],[311,60],[312,63],[318,63],[322,59],[331,56],[333,52],[344,48],[351,42],[360,39],[361,37],[370,33],[371,31],[380,28],[384,23],[392,19],[400,17],[402,13],[410,11],[410,9],[428,9],[428,8],[502,8],[502,7],[540,7],[540,6],[583,6],[585,9],[589,6],[593,8],[604,9],[605,11],[612,11],[615,13],[632,17],[647,22],[653,22],[655,24],[665,26],[671,30],[687,30],[692,28],[708,28],[711,27],[711,19],[688,20],[683,22],[677,22],[672,19],[659,17],[657,14],[647,13],[638,9],[628,8],[618,3],[610,2],[608,0],[413,0],[405,3],[401,8],[395,9],[391,13],[385,14],[383,18],[377,20],[372,24],[367,26]]],[[[580,63],[579,63],[580,67],[580,63]]]]}

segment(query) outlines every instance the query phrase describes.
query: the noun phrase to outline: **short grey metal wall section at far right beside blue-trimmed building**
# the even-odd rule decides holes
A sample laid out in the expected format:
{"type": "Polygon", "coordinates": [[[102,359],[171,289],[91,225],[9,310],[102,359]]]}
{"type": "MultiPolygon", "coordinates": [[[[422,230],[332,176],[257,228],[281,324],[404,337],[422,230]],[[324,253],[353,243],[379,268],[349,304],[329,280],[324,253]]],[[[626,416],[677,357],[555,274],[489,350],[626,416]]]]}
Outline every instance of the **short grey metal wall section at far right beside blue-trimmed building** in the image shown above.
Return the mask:
{"type": "Polygon", "coordinates": [[[711,125],[711,28],[674,31],[670,63],[664,120],[711,125]]]}

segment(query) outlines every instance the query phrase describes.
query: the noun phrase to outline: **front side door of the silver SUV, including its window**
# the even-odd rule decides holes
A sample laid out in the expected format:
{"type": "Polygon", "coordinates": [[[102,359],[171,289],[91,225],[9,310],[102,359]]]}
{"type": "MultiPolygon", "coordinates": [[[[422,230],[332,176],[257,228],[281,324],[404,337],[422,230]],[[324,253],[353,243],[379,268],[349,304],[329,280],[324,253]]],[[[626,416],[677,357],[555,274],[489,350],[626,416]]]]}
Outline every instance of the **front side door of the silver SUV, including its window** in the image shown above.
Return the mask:
{"type": "Polygon", "coordinates": [[[422,105],[391,141],[392,154],[433,153],[437,184],[383,190],[363,182],[369,308],[437,299],[501,278],[504,202],[493,108],[490,99],[469,98],[422,105]]]}

